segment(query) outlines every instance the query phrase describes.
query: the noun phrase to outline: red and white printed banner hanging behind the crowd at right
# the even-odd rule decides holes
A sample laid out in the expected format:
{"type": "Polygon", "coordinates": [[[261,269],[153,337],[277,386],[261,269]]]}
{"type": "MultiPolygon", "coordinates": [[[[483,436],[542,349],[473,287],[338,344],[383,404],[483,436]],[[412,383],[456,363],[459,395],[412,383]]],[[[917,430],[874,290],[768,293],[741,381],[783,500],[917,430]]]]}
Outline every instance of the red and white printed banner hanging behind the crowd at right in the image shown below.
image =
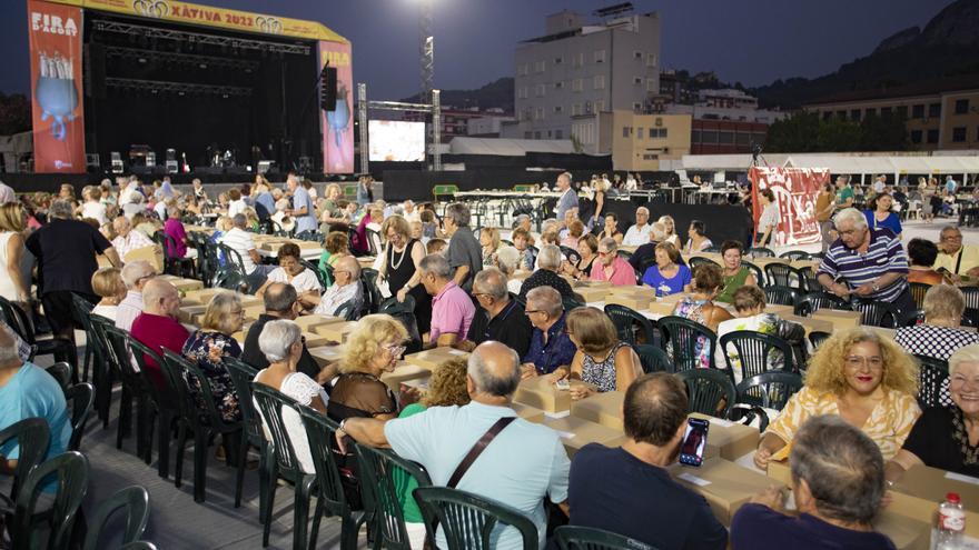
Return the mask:
{"type": "Polygon", "coordinates": [[[753,167],[748,171],[751,180],[751,203],[754,206],[754,227],[761,217],[758,192],[771,189],[779,204],[781,222],[774,236],[777,247],[820,242],[819,222],[815,221],[815,198],[823,183],[830,180],[829,169],[753,167]]]}

